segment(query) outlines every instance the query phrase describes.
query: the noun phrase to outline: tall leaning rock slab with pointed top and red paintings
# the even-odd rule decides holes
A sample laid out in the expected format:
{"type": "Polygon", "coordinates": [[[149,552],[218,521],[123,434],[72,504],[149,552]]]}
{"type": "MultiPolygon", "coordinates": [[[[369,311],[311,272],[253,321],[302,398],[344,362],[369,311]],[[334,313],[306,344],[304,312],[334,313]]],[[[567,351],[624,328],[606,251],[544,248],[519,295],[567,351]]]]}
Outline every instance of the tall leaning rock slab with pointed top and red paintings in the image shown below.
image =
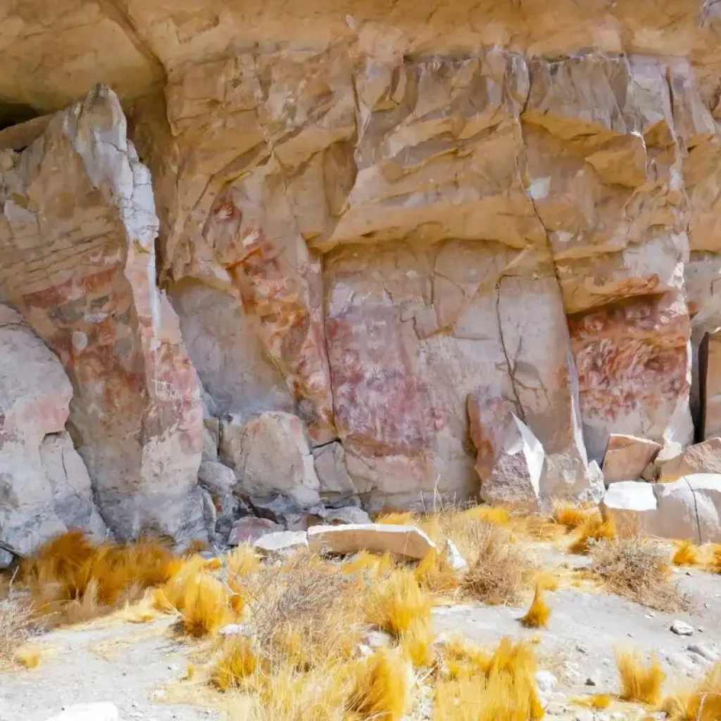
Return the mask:
{"type": "Polygon", "coordinates": [[[107,87],[58,113],[0,174],[1,293],[58,355],[68,428],[107,525],[202,534],[198,377],[155,285],[149,173],[107,87]]]}

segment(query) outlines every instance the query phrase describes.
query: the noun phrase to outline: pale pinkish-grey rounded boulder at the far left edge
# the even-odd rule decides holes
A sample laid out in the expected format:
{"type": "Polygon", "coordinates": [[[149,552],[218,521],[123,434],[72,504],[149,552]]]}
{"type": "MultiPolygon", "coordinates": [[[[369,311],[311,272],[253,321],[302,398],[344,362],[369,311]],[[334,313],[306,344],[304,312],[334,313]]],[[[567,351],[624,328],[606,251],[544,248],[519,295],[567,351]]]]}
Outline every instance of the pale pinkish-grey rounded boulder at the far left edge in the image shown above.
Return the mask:
{"type": "Polygon", "coordinates": [[[0,305],[0,540],[24,554],[68,528],[105,532],[65,430],[72,394],[58,358],[0,305]]]}

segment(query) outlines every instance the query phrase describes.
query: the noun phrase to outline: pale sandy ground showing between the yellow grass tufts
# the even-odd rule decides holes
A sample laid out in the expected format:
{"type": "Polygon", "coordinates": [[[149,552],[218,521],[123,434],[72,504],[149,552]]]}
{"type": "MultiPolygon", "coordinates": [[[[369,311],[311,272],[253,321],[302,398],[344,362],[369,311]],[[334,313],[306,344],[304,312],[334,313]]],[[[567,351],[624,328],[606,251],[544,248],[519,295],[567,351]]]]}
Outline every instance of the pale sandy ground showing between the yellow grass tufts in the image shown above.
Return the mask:
{"type": "MultiPolygon", "coordinates": [[[[586,562],[551,547],[543,554],[544,565],[586,562]]],[[[488,645],[507,635],[541,637],[541,665],[557,679],[554,688],[544,691],[551,719],[640,719],[647,712],[638,708],[616,703],[607,711],[590,712],[570,699],[618,691],[614,647],[619,644],[645,654],[657,651],[668,673],[666,691],[700,678],[709,667],[689,645],[701,644],[721,655],[721,577],[699,570],[676,574],[694,599],[688,612],[665,614],[608,593],[559,590],[549,594],[553,615],[549,629],[541,632],[520,626],[523,609],[503,606],[441,606],[435,609],[435,626],[441,634],[461,634],[488,645]],[[691,624],[694,634],[671,632],[675,619],[691,624]],[[588,679],[596,685],[587,685],[588,679]]],[[[93,701],[114,703],[123,721],[221,719],[217,710],[164,701],[164,687],[182,683],[191,653],[175,642],[170,623],[101,619],[45,634],[37,640],[44,649],[39,668],[0,674],[0,721],[45,721],[70,704],[93,701]]]]}

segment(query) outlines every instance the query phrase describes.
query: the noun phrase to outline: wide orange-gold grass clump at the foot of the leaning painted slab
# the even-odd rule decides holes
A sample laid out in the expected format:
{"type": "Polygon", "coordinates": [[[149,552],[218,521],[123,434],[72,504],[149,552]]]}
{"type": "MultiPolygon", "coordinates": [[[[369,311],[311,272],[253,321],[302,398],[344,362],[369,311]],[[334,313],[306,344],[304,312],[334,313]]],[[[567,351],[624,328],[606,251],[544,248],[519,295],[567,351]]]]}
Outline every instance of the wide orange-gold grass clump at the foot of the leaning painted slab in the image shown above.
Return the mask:
{"type": "Polygon", "coordinates": [[[182,564],[166,544],[143,538],[134,544],[94,546],[82,531],[68,531],[37,549],[20,567],[38,614],[53,623],[89,621],[168,580],[182,564]]]}

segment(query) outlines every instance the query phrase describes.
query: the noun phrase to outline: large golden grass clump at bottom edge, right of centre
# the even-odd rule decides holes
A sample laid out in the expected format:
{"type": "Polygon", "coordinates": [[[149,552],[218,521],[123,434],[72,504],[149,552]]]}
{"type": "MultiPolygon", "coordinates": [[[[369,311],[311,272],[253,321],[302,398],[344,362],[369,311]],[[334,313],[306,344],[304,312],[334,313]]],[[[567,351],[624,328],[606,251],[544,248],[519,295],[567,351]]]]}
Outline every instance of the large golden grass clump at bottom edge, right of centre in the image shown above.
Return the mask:
{"type": "MultiPolygon", "coordinates": [[[[526,644],[503,639],[487,670],[435,687],[436,721],[529,721],[544,716],[536,690],[536,656],[526,644]]],[[[482,670],[479,668],[479,670],[482,670]]]]}

